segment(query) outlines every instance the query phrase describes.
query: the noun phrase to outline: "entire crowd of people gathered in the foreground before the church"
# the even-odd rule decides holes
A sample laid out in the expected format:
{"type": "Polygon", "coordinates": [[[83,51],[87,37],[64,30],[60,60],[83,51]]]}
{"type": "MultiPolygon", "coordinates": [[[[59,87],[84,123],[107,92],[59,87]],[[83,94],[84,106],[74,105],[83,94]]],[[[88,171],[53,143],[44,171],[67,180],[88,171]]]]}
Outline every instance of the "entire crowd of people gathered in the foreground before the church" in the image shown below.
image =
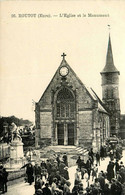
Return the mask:
{"type": "Polygon", "coordinates": [[[30,185],[35,182],[35,195],[124,195],[125,167],[116,149],[113,155],[110,155],[111,150],[102,146],[99,152],[94,153],[90,149],[86,161],[82,155],[78,156],[72,188],[66,154],[58,154],[34,166],[31,163],[23,166],[26,167],[26,182],[30,185]],[[110,160],[106,172],[99,171],[100,161],[107,155],[110,160]]]}

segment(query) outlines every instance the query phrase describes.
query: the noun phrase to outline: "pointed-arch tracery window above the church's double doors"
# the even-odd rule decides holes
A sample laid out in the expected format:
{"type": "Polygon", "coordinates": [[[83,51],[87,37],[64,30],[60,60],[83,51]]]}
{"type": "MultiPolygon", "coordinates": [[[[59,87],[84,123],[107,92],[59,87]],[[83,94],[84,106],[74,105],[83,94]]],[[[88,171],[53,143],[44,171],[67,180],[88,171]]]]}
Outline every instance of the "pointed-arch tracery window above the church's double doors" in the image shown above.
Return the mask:
{"type": "Polygon", "coordinates": [[[56,117],[57,118],[74,118],[74,116],[75,116],[74,96],[69,89],[64,87],[57,94],[56,117]]]}

